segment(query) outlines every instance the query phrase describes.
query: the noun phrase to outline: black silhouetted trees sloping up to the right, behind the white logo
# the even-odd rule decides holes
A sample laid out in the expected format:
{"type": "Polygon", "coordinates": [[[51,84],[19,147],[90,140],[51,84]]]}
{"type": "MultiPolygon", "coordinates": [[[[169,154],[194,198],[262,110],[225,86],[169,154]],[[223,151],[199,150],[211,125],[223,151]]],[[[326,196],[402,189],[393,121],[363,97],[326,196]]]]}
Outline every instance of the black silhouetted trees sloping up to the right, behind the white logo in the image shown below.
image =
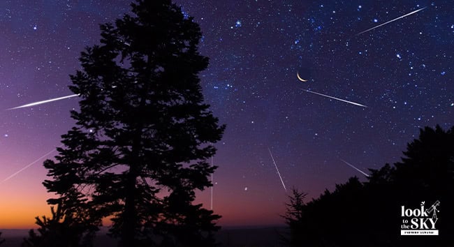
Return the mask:
{"type": "Polygon", "coordinates": [[[401,162],[370,171],[367,181],[353,177],[292,213],[301,217],[287,220],[291,240],[300,246],[454,245],[454,127],[421,129],[401,162]],[[427,209],[437,200],[439,236],[400,235],[402,206],[414,209],[425,201],[427,209]]]}

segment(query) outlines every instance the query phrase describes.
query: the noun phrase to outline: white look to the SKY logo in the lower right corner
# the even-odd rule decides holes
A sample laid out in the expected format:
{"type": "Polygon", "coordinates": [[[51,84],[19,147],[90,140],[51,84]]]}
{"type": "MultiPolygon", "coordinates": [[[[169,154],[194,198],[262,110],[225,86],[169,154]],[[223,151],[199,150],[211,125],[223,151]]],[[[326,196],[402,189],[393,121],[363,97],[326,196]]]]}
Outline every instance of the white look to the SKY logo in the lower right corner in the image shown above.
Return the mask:
{"type": "Polygon", "coordinates": [[[425,202],[421,202],[420,208],[406,209],[401,207],[402,225],[400,225],[401,235],[438,235],[435,227],[437,223],[437,207],[440,202],[434,202],[432,206],[425,208],[425,202]]]}

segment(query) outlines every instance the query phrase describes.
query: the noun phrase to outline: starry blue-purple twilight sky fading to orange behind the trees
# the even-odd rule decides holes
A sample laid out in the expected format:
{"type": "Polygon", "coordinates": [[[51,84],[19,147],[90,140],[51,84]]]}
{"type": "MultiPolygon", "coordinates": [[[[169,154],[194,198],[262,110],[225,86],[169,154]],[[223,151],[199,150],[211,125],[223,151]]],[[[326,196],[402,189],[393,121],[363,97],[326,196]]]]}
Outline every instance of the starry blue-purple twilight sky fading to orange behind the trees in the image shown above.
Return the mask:
{"type": "MultiPolygon", "coordinates": [[[[0,228],[50,214],[42,163],[73,126],[78,98],[7,109],[71,95],[80,52],[129,3],[0,2],[0,228]]],[[[451,0],[177,4],[203,31],[205,100],[227,125],[213,158],[220,225],[283,224],[286,190],[311,198],[352,176],[365,181],[346,163],[377,169],[399,161],[419,128],[454,125],[451,0]]],[[[209,209],[210,189],[198,195],[209,209]]]]}

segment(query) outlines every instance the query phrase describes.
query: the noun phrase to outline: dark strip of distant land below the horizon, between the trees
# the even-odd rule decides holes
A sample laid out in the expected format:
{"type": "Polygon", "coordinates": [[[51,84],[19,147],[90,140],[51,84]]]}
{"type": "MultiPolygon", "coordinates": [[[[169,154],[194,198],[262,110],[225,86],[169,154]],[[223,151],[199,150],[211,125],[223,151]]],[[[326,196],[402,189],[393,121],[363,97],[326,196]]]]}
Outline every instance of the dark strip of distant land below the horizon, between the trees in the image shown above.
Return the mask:
{"type": "MultiPolygon", "coordinates": [[[[6,242],[1,247],[20,247],[29,230],[0,230],[3,232],[1,237],[6,239],[6,242]]],[[[221,246],[283,246],[280,241],[279,234],[286,232],[285,227],[223,227],[217,233],[217,241],[221,246]]],[[[117,246],[114,239],[106,236],[103,233],[98,234],[95,239],[96,247],[117,246]]]]}

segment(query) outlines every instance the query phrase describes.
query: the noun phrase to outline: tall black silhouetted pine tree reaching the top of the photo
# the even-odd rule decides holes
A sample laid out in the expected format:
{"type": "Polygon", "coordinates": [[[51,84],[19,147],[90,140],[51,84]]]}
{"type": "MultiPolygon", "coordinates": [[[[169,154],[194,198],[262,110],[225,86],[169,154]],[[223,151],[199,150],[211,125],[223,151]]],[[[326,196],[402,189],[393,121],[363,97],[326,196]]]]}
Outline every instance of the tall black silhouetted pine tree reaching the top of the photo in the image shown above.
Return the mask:
{"type": "Polygon", "coordinates": [[[88,229],[112,217],[119,246],[210,246],[220,216],[193,201],[212,186],[206,160],[225,126],[203,102],[200,28],[170,0],[131,6],[101,25],[101,45],[71,75],[80,110],[57,161],[44,164],[57,194],[48,202],[88,229]]]}

